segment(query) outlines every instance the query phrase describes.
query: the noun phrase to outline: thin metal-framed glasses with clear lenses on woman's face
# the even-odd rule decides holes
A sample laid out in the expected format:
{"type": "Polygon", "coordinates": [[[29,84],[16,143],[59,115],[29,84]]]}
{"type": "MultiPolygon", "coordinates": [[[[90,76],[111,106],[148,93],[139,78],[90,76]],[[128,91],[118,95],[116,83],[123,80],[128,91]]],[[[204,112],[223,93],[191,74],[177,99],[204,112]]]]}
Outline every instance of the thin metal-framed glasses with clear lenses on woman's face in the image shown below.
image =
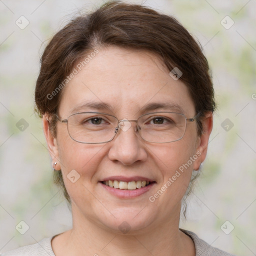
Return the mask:
{"type": "MultiPolygon", "coordinates": [[[[199,113],[198,113],[199,114],[199,113]]],[[[153,112],[138,117],[137,120],[118,120],[115,116],[100,112],[74,113],[67,119],[57,119],[67,124],[70,137],[80,143],[105,143],[111,141],[118,130],[127,131],[131,121],[136,122],[135,131],[148,142],[167,143],[181,139],[186,130],[186,123],[196,117],[187,118],[182,113],[153,112]]]]}

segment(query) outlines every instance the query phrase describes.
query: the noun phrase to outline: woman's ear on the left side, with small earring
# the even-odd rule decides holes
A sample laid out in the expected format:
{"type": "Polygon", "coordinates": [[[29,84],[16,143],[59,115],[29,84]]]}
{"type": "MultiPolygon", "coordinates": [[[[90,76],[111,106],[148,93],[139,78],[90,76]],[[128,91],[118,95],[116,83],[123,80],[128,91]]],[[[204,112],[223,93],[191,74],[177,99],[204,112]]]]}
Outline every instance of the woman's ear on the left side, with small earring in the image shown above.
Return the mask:
{"type": "Polygon", "coordinates": [[[46,142],[48,145],[48,151],[52,159],[52,167],[55,170],[60,170],[60,163],[59,163],[59,153],[58,153],[58,147],[57,147],[57,140],[53,136],[50,127],[49,127],[49,115],[48,114],[43,114],[42,116],[42,126],[43,126],[43,132],[44,136],[46,138],[46,142]],[[54,162],[57,162],[54,165],[54,162]]]}

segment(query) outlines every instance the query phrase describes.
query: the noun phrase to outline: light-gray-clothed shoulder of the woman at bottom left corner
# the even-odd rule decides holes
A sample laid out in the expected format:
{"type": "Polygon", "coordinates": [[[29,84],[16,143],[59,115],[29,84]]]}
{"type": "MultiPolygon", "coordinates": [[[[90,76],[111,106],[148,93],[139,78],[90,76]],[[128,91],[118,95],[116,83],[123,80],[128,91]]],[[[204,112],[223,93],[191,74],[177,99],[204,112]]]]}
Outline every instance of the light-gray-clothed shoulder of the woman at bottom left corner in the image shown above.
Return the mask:
{"type": "Polygon", "coordinates": [[[55,256],[51,248],[51,238],[52,237],[44,238],[35,244],[6,251],[0,254],[0,256],[55,256]]]}

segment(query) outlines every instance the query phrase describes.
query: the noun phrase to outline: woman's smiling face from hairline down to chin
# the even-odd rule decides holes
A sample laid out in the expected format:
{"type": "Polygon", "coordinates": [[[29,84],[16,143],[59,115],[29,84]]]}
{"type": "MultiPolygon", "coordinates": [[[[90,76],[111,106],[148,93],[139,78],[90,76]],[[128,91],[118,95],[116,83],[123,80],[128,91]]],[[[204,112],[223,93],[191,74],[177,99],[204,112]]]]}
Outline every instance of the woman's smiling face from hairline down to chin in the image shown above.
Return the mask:
{"type": "MultiPolygon", "coordinates": [[[[85,111],[133,120],[157,111],[195,115],[187,87],[173,79],[155,55],[119,47],[100,48],[63,89],[59,117],[85,111]],[[83,106],[87,102],[104,102],[110,109],[83,106]],[[176,107],[141,110],[152,102],[176,107]]],[[[139,232],[179,218],[192,169],[198,169],[206,154],[210,124],[206,135],[198,137],[196,123],[187,122],[184,136],[168,143],[146,142],[135,131],[135,122],[130,124],[127,130],[119,129],[112,141],[101,144],[74,141],[66,123],[60,122],[56,138],[50,141],[48,136],[53,161],[59,159],[71,198],[74,223],[87,219],[107,230],[139,232]],[[108,179],[153,182],[122,190],[102,183],[108,179]]]]}

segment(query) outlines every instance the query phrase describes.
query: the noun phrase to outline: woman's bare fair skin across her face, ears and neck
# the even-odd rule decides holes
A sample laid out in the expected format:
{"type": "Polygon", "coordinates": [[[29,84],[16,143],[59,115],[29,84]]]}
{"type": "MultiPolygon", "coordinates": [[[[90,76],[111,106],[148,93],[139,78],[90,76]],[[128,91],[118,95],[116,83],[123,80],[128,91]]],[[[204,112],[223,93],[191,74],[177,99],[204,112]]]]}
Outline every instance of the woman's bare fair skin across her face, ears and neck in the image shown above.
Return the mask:
{"type": "MultiPolygon", "coordinates": [[[[195,115],[186,85],[180,79],[172,79],[156,55],[134,49],[99,48],[96,56],[64,88],[60,118],[67,118],[74,106],[87,99],[107,102],[112,108],[104,112],[118,119],[137,119],[143,114],[139,111],[144,104],[163,100],[180,105],[186,117],[195,115]]],[[[161,110],[165,109],[155,111],[161,110]]],[[[53,137],[45,114],[44,134],[52,163],[57,161],[55,169],[62,171],[73,217],[72,229],[52,239],[55,255],[195,255],[193,241],[178,225],[181,199],[192,169],[197,170],[206,156],[211,112],[202,123],[201,136],[197,136],[196,123],[187,122],[183,138],[170,143],[142,140],[131,122],[127,131],[119,130],[110,142],[84,144],[70,138],[65,123],[57,123],[57,135],[53,137]],[[197,159],[150,202],[148,197],[196,152],[200,152],[197,159]],[[75,183],[66,176],[72,169],[80,175],[75,183]],[[98,182],[110,175],[141,175],[156,184],[136,198],[120,199],[98,182]],[[130,226],[125,234],[118,228],[123,221],[130,226]]]]}

